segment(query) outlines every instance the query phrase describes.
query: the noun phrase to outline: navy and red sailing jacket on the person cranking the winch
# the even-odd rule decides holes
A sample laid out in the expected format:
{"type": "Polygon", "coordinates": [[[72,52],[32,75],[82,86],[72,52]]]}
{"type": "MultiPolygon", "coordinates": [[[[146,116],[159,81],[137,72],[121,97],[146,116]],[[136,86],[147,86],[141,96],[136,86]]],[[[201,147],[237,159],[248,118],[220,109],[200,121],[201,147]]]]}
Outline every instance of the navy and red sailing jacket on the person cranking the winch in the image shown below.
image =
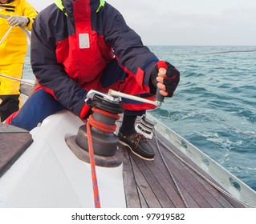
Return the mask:
{"type": "Polygon", "coordinates": [[[39,85],[77,115],[87,83],[97,80],[115,57],[124,72],[149,93],[158,58],[107,2],[57,0],[35,18],[31,35],[31,66],[39,85]]]}

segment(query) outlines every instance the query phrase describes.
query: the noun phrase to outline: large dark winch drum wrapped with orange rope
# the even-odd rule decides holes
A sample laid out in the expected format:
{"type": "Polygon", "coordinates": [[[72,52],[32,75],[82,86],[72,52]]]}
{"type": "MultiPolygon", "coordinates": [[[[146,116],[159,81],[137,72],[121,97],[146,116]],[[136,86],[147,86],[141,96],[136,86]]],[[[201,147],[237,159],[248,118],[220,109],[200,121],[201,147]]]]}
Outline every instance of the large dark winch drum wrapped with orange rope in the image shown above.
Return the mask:
{"type": "MultiPolygon", "coordinates": [[[[91,140],[94,154],[112,156],[116,154],[119,139],[114,133],[118,114],[123,113],[120,98],[113,98],[107,94],[91,91],[87,94],[87,101],[91,105],[93,113],[87,119],[91,125],[91,140]]],[[[75,142],[88,151],[87,126],[79,127],[75,142]]]]}

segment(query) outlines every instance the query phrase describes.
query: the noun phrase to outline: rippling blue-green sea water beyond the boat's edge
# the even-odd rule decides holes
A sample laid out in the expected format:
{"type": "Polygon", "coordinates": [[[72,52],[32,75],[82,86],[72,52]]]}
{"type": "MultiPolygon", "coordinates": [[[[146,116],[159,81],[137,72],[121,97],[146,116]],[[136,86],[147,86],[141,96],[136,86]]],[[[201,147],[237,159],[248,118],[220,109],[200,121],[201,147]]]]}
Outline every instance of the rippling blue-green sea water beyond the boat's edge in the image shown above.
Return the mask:
{"type": "Polygon", "coordinates": [[[173,98],[150,113],[256,190],[256,46],[148,47],[181,72],[173,98]]]}

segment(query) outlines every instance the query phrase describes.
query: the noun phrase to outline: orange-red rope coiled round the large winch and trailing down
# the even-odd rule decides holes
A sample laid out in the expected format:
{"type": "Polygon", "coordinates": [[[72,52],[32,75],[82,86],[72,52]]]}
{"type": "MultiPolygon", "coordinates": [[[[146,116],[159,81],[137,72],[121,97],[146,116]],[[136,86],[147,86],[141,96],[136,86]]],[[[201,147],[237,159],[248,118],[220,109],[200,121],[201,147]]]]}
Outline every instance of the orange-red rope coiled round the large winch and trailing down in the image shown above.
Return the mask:
{"type": "MultiPolygon", "coordinates": [[[[103,114],[109,118],[115,118],[116,120],[119,119],[119,115],[112,114],[106,110],[101,110],[96,107],[92,107],[91,109],[93,112],[98,114],[103,114]]],[[[86,122],[87,125],[87,139],[88,139],[88,150],[90,156],[90,164],[91,164],[91,181],[93,187],[93,196],[95,202],[95,208],[100,208],[100,194],[99,194],[99,187],[97,182],[96,170],[95,170],[95,156],[93,150],[93,142],[91,137],[91,126],[94,127],[96,130],[100,130],[107,133],[113,133],[116,130],[116,125],[107,125],[102,122],[99,122],[93,118],[93,114],[89,116],[86,122]]]]}

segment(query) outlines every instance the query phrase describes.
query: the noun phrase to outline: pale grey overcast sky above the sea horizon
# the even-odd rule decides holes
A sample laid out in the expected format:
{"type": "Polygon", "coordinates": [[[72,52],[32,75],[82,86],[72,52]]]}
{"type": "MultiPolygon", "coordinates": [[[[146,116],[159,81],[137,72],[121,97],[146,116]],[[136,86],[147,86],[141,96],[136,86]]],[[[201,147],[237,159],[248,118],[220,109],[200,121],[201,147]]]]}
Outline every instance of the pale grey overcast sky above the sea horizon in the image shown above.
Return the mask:
{"type": "MultiPolygon", "coordinates": [[[[54,0],[27,0],[43,10],[54,0]]],[[[145,45],[254,45],[256,0],[108,0],[145,45]]]]}

